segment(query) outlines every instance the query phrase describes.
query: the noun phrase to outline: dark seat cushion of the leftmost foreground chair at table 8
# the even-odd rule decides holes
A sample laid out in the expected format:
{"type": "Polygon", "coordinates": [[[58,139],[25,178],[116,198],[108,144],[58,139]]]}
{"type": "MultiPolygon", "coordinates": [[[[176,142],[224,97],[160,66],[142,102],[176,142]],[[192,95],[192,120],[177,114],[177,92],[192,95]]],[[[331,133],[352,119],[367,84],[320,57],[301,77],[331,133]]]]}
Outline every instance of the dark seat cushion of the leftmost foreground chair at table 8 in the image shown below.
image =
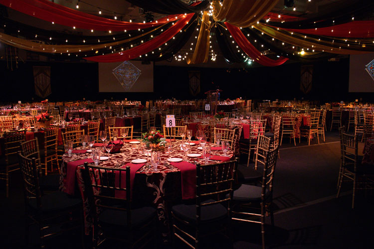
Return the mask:
{"type": "MultiPolygon", "coordinates": [[[[37,209],[36,199],[31,199],[28,203],[31,208],[37,209]]],[[[81,198],[71,197],[64,192],[56,191],[41,197],[41,211],[54,212],[75,208],[82,205],[81,198]]]]}

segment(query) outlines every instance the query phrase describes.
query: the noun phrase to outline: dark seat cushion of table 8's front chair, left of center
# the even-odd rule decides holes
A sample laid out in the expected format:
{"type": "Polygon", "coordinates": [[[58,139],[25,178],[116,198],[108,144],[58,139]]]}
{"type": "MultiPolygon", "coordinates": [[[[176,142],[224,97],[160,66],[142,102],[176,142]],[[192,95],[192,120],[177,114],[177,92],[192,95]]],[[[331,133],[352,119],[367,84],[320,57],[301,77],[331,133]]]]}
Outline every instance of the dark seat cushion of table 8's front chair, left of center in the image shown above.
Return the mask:
{"type": "MultiPolygon", "coordinates": [[[[141,207],[131,210],[131,226],[139,227],[156,216],[156,209],[152,207],[141,207]]],[[[105,209],[99,216],[102,226],[127,226],[126,211],[105,209]]]]}

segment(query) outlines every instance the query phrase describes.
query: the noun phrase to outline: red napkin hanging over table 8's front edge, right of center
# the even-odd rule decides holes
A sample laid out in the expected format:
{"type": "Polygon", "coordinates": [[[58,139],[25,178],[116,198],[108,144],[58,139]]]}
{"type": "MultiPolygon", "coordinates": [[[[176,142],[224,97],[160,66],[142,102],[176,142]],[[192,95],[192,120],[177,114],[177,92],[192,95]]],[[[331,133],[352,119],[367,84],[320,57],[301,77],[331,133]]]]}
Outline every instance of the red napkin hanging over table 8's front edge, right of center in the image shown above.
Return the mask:
{"type": "Polygon", "coordinates": [[[196,197],[196,165],[190,162],[172,162],[171,164],[181,170],[182,199],[194,199],[196,197]]]}

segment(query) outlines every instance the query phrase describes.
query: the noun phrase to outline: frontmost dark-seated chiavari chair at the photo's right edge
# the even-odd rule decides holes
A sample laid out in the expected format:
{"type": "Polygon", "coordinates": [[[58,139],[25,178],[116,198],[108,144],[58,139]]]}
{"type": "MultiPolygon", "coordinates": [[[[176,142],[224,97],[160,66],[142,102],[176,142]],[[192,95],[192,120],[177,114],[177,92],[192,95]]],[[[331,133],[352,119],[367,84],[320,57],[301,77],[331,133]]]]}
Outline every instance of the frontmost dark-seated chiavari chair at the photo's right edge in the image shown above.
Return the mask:
{"type": "Polygon", "coordinates": [[[374,189],[374,170],[371,165],[362,164],[358,156],[358,137],[341,133],[341,158],[342,169],[339,175],[339,188],[337,198],[340,195],[343,180],[348,178],[353,182],[352,208],[355,208],[355,196],[358,190],[374,189]]]}

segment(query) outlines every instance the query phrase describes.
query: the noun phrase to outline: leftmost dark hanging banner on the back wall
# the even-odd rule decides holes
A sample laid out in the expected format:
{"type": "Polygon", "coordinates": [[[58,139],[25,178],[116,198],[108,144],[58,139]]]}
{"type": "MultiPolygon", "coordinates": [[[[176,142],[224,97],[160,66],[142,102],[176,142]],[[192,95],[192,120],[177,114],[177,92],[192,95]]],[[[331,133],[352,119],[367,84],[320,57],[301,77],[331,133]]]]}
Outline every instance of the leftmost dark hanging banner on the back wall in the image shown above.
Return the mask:
{"type": "Polygon", "coordinates": [[[32,67],[34,73],[35,95],[45,98],[52,93],[51,67],[32,67]]]}

